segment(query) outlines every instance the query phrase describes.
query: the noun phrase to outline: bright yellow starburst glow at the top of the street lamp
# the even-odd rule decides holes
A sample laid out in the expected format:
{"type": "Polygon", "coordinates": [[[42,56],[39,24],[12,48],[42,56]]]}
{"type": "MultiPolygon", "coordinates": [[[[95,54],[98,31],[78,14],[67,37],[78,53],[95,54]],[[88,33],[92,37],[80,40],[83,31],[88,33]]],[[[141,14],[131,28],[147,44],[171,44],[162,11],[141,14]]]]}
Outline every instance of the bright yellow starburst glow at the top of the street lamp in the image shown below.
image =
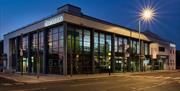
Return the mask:
{"type": "Polygon", "coordinates": [[[144,8],[141,10],[140,17],[143,21],[151,21],[154,19],[156,15],[155,10],[153,8],[144,8]]]}

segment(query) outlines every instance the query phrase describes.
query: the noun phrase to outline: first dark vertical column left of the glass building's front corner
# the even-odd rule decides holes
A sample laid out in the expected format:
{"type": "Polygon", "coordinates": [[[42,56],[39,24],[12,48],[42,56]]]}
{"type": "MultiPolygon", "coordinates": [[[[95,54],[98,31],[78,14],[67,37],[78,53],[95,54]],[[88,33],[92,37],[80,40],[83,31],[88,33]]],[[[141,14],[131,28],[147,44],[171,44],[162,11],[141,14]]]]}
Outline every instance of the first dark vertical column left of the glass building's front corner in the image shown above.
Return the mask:
{"type": "Polygon", "coordinates": [[[44,49],[43,49],[43,73],[48,73],[48,30],[43,31],[43,37],[44,37],[44,49]]]}

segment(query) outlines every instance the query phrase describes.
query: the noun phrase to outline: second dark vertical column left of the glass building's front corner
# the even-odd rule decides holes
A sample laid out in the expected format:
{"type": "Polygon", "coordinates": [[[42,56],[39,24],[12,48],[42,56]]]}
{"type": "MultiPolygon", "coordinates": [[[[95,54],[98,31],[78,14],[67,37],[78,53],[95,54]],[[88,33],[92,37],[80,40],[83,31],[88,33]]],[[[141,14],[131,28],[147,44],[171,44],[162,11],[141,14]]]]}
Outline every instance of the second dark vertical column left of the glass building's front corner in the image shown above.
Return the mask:
{"type": "Polygon", "coordinates": [[[28,72],[31,73],[32,72],[32,62],[31,62],[31,34],[28,34],[28,72]]]}

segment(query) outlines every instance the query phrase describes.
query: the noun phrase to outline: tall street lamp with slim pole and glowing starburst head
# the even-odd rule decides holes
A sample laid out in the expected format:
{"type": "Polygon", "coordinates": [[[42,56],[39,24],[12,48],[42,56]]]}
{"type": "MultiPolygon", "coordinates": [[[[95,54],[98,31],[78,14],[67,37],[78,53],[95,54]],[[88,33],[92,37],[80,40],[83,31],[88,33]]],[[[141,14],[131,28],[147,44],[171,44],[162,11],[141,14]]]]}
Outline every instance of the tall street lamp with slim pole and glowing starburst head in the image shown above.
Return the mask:
{"type": "MultiPolygon", "coordinates": [[[[155,17],[155,10],[153,8],[143,8],[140,12],[140,19],[139,19],[139,65],[141,66],[141,21],[150,22],[155,17]]],[[[139,66],[139,70],[141,70],[141,67],[139,66]]]]}

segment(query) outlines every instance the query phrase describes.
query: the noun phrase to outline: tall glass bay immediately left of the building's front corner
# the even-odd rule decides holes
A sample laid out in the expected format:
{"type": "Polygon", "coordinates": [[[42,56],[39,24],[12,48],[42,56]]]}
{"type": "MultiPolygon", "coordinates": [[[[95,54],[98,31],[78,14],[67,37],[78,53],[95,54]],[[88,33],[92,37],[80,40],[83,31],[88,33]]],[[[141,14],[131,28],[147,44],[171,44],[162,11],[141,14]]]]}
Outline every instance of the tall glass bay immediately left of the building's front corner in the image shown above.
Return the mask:
{"type": "Polygon", "coordinates": [[[48,31],[49,74],[63,73],[63,54],[64,54],[63,36],[64,36],[63,27],[55,27],[48,31]]]}

